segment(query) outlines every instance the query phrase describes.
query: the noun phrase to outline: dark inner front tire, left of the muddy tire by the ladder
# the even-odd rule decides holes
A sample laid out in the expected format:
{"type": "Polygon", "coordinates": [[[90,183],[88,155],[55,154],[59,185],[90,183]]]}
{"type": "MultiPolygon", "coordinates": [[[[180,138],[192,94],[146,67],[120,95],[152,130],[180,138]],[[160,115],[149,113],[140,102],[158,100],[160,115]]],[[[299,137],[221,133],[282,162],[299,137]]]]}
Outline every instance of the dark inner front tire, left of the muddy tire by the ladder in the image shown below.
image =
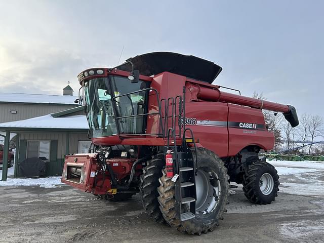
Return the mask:
{"type": "Polygon", "coordinates": [[[144,210],[154,221],[159,223],[163,223],[164,219],[157,201],[157,187],[160,185],[158,179],[162,176],[164,164],[165,158],[163,152],[153,155],[152,159],[147,161],[147,166],[143,168],[139,187],[140,198],[144,210]]]}

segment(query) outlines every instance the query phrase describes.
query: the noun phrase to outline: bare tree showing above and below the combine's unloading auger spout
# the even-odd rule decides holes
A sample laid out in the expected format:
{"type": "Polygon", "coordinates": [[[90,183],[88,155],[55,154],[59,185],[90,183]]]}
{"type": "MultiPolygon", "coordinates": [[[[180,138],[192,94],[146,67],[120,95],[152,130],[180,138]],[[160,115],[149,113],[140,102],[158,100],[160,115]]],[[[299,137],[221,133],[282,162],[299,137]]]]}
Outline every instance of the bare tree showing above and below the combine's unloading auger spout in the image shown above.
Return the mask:
{"type": "MultiPolygon", "coordinates": [[[[252,98],[259,99],[259,100],[267,100],[264,97],[263,92],[260,94],[254,91],[252,98]]],[[[283,115],[281,113],[276,113],[270,110],[262,110],[265,124],[269,131],[273,132],[274,135],[274,150],[278,150],[282,144],[281,141],[281,123],[283,120],[283,115]]]]}

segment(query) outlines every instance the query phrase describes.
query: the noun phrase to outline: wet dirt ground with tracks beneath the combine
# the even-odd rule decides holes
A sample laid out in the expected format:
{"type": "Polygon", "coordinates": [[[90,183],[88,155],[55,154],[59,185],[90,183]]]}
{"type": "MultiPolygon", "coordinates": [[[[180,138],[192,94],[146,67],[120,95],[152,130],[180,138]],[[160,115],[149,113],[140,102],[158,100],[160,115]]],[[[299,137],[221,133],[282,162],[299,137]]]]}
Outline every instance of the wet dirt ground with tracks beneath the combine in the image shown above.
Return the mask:
{"type": "Polygon", "coordinates": [[[324,196],[279,193],[259,206],[234,191],[220,226],[197,236],[154,223],[138,196],[111,203],[66,185],[0,187],[0,242],[324,242],[324,196]]]}

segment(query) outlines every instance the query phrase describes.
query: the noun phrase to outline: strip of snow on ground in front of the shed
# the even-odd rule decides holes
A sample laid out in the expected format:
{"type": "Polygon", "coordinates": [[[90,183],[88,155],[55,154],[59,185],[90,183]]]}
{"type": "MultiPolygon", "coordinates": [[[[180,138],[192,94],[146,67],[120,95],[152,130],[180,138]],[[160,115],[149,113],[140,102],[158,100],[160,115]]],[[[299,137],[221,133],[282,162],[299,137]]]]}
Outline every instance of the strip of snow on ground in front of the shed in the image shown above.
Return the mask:
{"type": "Polygon", "coordinates": [[[7,181],[0,181],[0,186],[40,186],[44,188],[55,188],[63,184],[60,176],[46,178],[8,178],[7,181]]]}

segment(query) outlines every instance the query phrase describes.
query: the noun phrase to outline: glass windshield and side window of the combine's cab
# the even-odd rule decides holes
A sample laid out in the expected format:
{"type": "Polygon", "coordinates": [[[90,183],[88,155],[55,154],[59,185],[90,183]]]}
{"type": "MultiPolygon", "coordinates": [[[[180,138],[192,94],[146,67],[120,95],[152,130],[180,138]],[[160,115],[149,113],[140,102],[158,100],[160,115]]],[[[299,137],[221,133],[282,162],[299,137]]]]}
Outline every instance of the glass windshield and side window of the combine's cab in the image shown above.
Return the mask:
{"type": "Polygon", "coordinates": [[[127,77],[90,79],[85,84],[87,115],[93,137],[143,134],[148,82],[132,84],[127,77]],[[134,94],[125,95],[134,91],[134,94]],[[120,118],[119,118],[120,117],[120,118]]]}

